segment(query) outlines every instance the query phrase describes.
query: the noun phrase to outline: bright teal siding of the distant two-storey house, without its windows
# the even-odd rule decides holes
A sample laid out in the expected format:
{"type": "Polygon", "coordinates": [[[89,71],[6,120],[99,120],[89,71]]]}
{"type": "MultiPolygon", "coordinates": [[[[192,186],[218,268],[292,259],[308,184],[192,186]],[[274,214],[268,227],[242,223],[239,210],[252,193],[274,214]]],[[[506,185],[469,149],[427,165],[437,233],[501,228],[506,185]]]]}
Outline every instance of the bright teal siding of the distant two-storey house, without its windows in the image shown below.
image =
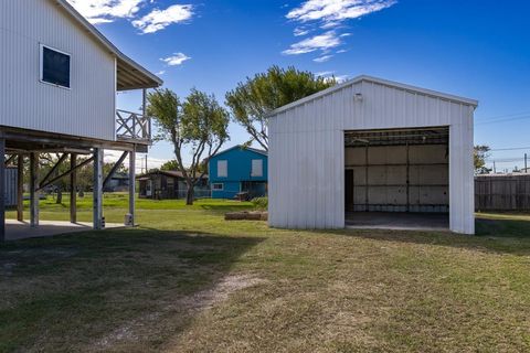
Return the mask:
{"type": "Polygon", "coordinates": [[[213,199],[233,199],[236,193],[241,191],[241,182],[243,181],[259,181],[267,182],[268,175],[268,158],[265,154],[255,152],[253,150],[234,148],[221,152],[210,159],[209,176],[210,185],[214,183],[223,183],[224,190],[215,191],[212,189],[213,199]],[[251,176],[252,160],[263,160],[262,176],[251,176]],[[227,176],[218,176],[218,161],[227,161],[227,176]]]}

